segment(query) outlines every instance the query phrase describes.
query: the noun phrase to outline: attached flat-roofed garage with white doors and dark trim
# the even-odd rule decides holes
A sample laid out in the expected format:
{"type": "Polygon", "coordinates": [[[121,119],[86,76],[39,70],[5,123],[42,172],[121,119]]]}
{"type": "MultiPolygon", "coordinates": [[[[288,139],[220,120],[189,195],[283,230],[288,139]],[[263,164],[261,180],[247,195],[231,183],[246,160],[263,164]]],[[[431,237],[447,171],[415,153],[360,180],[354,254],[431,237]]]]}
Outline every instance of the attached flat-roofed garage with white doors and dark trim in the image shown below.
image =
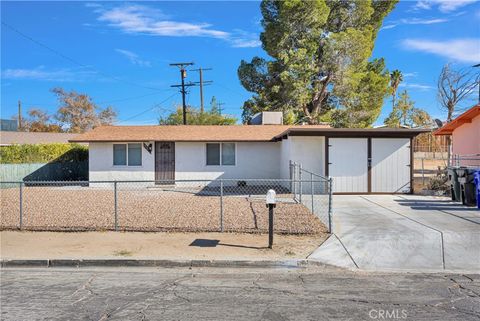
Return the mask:
{"type": "Polygon", "coordinates": [[[293,138],[289,148],[297,152],[290,153],[290,159],[311,171],[332,177],[335,194],[408,194],[413,188],[412,140],[427,131],[306,127],[291,128],[277,139],[293,138]],[[302,137],[322,139],[312,143],[300,139],[302,137]],[[320,144],[321,147],[317,146],[320,144]],[[295,145],[309,146],[309,149],[295,149],[295,145]]]}

